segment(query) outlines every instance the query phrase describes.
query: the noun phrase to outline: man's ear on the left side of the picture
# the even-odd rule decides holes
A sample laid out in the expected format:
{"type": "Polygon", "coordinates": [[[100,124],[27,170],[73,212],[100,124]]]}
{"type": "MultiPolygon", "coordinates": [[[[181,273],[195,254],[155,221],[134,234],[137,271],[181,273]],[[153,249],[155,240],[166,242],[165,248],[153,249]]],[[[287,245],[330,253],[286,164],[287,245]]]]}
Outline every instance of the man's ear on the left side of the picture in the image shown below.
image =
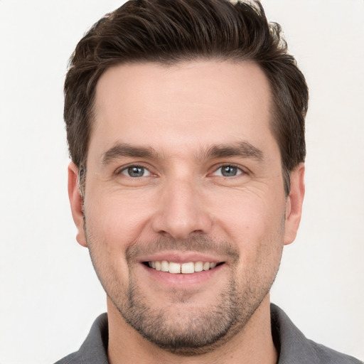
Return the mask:
{"type": "Polygon", "coordinates": [[[82,197],[78,188],[78,168],[73,162],[68,166],[68,198],[70,198],[70,205],[72,210],[73,221],[77,228],[76,240],[82,245],[87,247],[86,234],[84,230],[84,220],[82,211],[82,197]]]}

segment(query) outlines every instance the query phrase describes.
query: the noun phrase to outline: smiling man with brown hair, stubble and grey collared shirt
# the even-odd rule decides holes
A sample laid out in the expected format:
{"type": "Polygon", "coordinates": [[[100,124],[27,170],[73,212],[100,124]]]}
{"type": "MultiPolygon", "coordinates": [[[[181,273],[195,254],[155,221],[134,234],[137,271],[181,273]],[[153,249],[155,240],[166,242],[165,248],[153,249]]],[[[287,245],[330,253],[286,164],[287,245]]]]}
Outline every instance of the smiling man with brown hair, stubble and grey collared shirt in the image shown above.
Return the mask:
{"type": "Polygon", "coordinates": [[[258,2],[129,1],[92,27],[65,81],[68,189],[107,315],[58,363],[360,363],[269,302],[307,102],[258,2]]]}

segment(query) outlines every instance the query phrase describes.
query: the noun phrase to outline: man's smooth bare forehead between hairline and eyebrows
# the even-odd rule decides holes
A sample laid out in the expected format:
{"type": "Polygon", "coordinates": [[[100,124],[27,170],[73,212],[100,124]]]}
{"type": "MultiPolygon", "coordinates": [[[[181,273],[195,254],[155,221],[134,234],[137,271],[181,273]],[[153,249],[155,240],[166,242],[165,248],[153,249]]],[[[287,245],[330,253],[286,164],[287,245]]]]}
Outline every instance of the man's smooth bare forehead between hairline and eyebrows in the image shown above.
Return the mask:
{"type": "Polygon", "coordinates": [[[156,149],[264,144],[271,94],[253,63],[200,60],[164,66],[117,65],[97,83],[92,144],[148,144],[156,149]]]}

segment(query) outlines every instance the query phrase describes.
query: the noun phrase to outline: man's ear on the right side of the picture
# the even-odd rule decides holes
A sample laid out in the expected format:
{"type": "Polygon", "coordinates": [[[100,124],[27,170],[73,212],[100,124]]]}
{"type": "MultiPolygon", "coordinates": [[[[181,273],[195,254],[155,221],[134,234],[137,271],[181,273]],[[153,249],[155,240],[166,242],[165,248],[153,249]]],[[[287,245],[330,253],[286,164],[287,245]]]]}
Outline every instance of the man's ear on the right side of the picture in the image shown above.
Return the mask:
{"type": "Polygon", "coordinates": [[[291,191],[286,201],[284,245],[291,244],[296,239],[299,222],[301,221],[303,202],[304,164],[301,163],[291,172],[291,191]]]}

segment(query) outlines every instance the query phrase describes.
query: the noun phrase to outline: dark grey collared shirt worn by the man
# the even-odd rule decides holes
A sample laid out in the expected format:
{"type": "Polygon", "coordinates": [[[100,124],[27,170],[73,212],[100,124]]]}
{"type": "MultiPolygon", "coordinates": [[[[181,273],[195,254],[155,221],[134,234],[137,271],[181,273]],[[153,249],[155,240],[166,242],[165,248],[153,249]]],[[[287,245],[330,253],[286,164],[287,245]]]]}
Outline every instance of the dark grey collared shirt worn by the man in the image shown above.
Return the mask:
{"type": "MultiPolygon", "coordinates": [[[[279,354],[277,364],[363,364],[359,360],[308,340],[284,311],[271,304],[272,335],[279,354]]],[[[77,352],[55,364],[109,364],[107,314],[97,317],[77,352]]]]}

